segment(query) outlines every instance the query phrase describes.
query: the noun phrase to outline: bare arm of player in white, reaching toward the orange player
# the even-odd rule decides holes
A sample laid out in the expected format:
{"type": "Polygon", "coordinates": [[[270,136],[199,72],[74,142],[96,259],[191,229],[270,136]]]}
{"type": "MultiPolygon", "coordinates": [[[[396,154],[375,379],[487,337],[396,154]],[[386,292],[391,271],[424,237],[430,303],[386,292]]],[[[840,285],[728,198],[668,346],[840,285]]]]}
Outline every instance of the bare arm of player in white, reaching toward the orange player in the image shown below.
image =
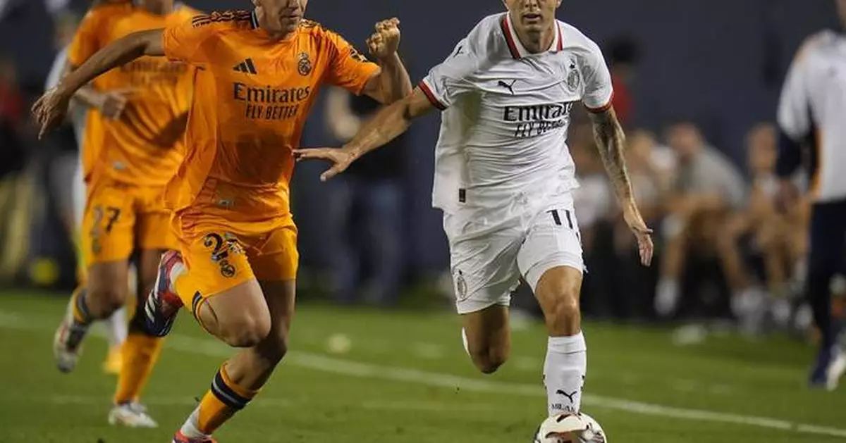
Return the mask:
{"type": "Polygon", "coordinates": [[[325,182],[346,170],[349,164],[360,156],[396,139],[409,129],[412,120],[426,114],[432,108],[433,105],[423,90],[419,87],[415,88],[411,95],[376,112],[376,116],[366,123],[343,148],[301,149],[294,150],[294,155],[297,156],[297,161],[307,159],[332,161],[332,167],[321,174],[321,181],[325,182]]]}

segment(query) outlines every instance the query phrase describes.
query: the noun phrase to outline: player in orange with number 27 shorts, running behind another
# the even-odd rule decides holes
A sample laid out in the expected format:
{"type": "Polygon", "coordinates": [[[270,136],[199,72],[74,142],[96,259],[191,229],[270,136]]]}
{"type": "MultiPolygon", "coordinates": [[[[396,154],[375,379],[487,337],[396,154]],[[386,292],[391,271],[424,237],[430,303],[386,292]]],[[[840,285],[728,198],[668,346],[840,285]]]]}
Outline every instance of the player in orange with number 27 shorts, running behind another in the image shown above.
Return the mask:
{"type": "MultiPolygon", "coordinates": [[[[181,23],[200,14],[173,0],[96,2],[68,48],[74,70],[110,42],[140,30],[181,23]]],[[[139,404],[162,348],[162,338],[145,331],[144,298],[156,281],[162,252],[177,247],[164,206],[165,184],[184,149],[179,139],[193,93],[194,68],[187,63],[142,57],[97,78],[74,99],[89,107],[82,156],[86,182],[80,251],[81,286],[53,342],[58,369],[70,372],[94,320],[106,319],[126,303],[129,260],[135,254],[140,302],[129,323],[109,422],[155,427],[139,404]]]]}

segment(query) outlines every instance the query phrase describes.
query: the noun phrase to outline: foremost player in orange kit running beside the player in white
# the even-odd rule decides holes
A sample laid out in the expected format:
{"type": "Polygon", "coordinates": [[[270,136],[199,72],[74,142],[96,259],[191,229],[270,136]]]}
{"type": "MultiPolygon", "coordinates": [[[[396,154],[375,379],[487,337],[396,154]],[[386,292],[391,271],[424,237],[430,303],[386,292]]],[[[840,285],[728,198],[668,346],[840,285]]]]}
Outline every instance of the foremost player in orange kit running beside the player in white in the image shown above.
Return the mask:
{"type": "Polygon", "coordinates": [[[213,13],[107,46],[36,102],[42,134],[74,91],[141,56],[197,68],[185,159],[168,183],[179,252],[162,257],[147,327],[164,335],[173,307],[189,307],[212,335],[243,348],[173,437],[211,441],[247,405],[287,350],[299,255],[288,204],[305,118],[322,84],[391,103],[411,92],[398,20],[376,25],[368,62],[341,36],[303,19],[307,0],[253,0],[250,12],[213,13]]]}

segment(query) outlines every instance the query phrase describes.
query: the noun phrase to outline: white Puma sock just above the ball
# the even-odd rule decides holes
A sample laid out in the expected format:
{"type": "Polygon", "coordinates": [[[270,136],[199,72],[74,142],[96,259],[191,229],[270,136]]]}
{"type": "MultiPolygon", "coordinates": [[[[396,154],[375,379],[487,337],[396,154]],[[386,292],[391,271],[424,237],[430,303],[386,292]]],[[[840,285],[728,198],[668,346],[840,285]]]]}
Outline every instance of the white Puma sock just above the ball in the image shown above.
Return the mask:
{"type": "Polygon", "coordinates": [[[549,415],[578,413],[587,373],[587,344],[580,332],[574,336],[551,336],[543,383],[547,386],[549,415]]]}

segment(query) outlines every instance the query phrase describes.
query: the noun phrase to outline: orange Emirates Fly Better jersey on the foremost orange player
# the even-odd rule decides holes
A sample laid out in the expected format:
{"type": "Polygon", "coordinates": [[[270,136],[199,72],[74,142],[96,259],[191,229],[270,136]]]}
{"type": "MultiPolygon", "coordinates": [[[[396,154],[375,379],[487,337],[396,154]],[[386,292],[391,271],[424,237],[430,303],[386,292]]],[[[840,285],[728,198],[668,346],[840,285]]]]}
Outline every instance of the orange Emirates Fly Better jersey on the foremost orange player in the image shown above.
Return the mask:
{"type": "Polygon", "coordinates": [[[243,222],[250,232],[289,222],[292,150],[321,84],[360,94],[379,69],[313,21],[272,41],[246,11],[169,25],[163,46],[170,59],[198,68],[186,158],[168,184],[168,205],[243,222]]]}

